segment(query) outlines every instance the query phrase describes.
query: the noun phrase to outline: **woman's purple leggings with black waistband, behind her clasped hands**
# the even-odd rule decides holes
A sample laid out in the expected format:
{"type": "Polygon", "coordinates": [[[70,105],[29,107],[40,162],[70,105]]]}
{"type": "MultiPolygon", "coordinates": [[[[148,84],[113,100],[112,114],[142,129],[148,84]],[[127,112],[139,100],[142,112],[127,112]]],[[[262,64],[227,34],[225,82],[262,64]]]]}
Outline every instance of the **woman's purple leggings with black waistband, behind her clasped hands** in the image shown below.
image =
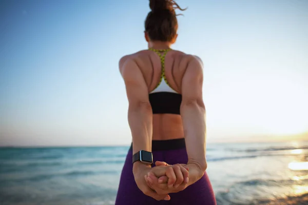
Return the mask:
{"type": "MultiPolygon", "coordinates": [[[[153,140],[153,162],[165,161],[169,165],[187,163],[185,140],[153,140]]],[[[153,165],[155,166],[155,165],[153,165]]],[[[132,174],[132,147],[130,147],[122,170],[120,185],[115,200],[115,205],[139,205],[139,204],[175,204],[175,205],[215,205],[215,195],[207,174],[193,185],[190,185],[178,193],[170,193],[169,201],[157,201],[142,193],[137,187],[132,174]]]]}

